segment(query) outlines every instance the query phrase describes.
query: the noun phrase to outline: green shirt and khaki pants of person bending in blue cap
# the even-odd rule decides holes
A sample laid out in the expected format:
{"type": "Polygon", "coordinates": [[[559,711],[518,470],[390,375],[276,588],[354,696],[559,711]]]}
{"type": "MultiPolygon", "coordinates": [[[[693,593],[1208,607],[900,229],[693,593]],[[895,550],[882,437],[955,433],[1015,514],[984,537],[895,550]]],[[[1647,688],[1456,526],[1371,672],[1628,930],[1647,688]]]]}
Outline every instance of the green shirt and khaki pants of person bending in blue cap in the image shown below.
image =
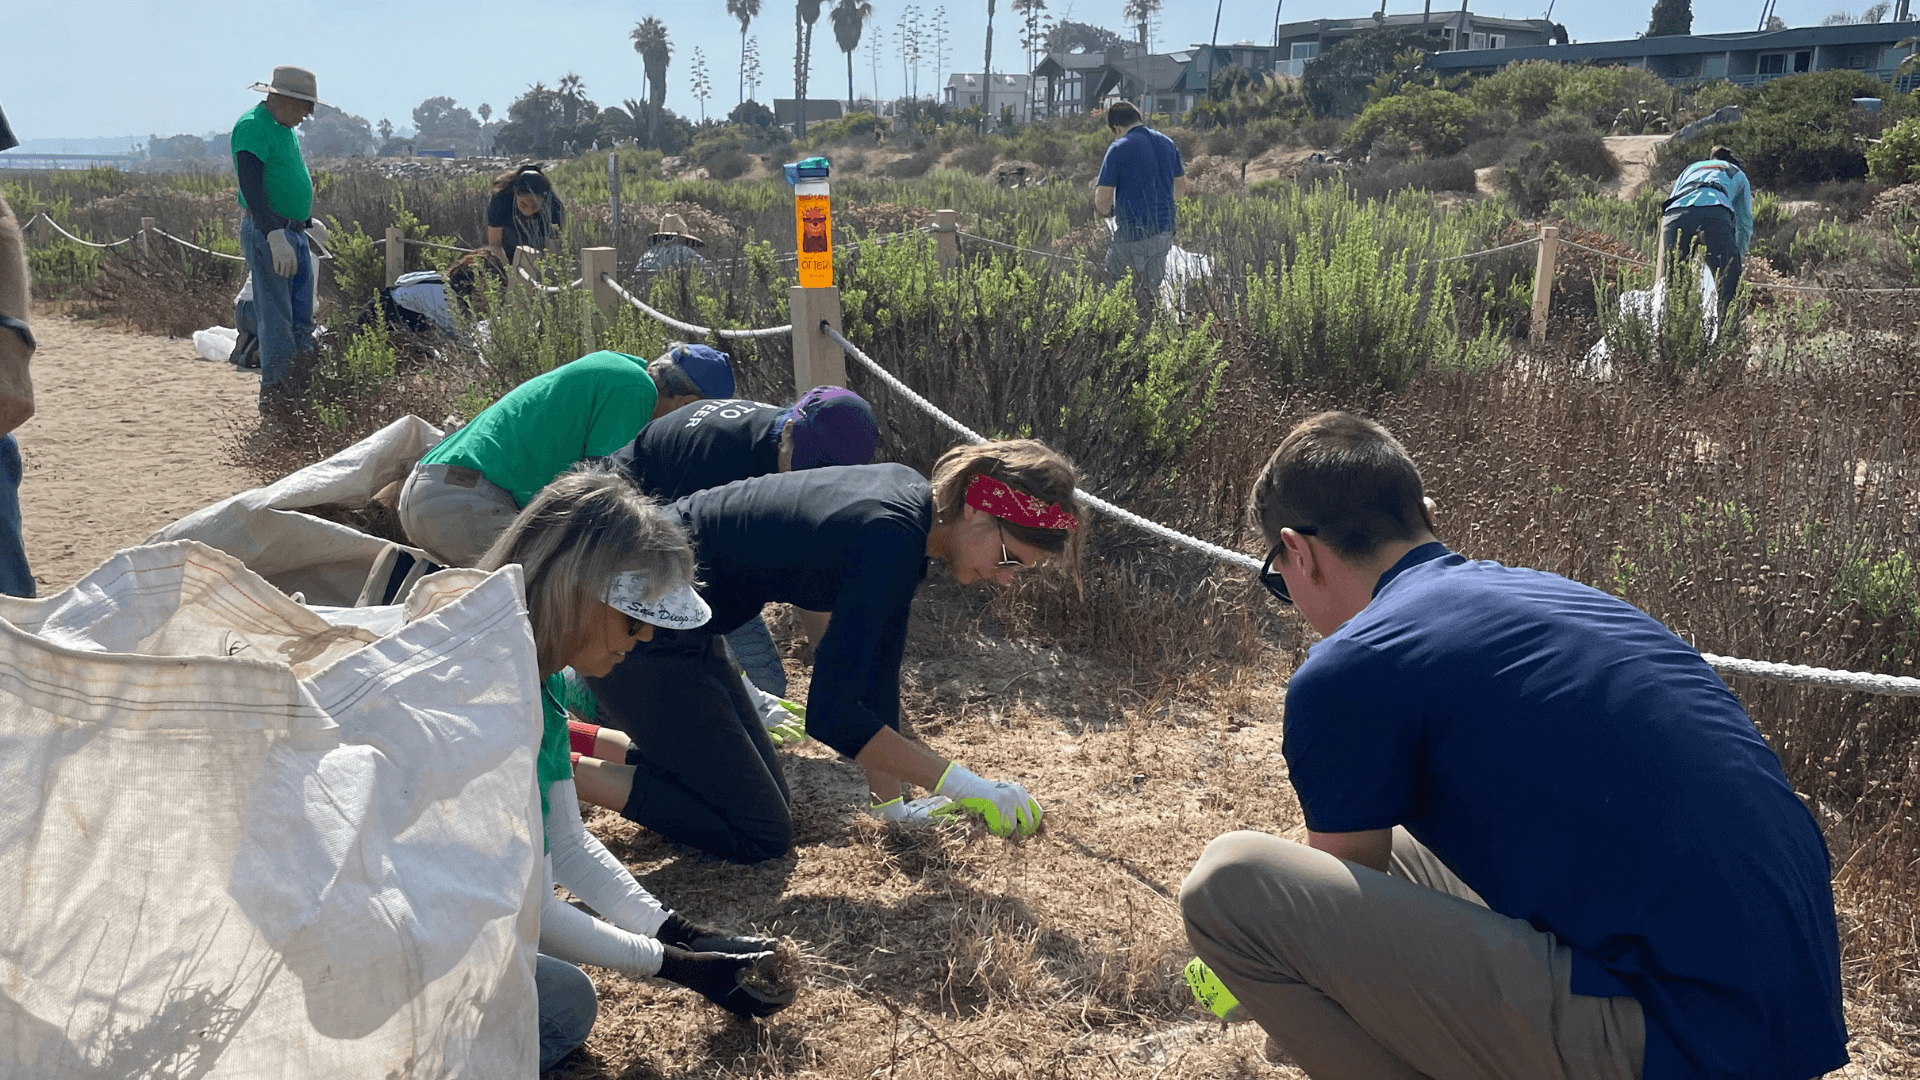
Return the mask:
{"type": "Polygon", "coordinates": [[[589,352],[520,382],[420,457],[399,525],[436,563],[470,567],[549,480],[634,442],[653,417],[647,361],[589,352]]]}

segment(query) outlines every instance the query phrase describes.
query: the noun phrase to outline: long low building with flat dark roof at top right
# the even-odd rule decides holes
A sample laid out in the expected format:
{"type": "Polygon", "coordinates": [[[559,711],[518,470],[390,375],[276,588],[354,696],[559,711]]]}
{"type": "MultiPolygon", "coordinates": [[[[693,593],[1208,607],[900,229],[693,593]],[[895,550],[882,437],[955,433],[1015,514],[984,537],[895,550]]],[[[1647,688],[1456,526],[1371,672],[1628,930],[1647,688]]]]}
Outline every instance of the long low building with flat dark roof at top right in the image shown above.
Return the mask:
{"type": "MultiPolygon", "coordinates": [[[[1672,85],[1728,79],[1757,86],[1782,75],[1805,71],[1860,71],[1893,81],[1914,46],[1901,40],[1920,35],[1920,21],[1849,23],[1841,27],[1791,27],[1784,31],[1736,35],[1672,35],[1580,44],[1534,44],[1488,48],[1480,52],[1442,52],[1427,60],[1440,71],[1486,73],[1521,60],[1620,63],[1645,67],[1672,85]]],[[[1912,90],[1916,79],[1901,77],[1897,90],[1912,90]]]]}

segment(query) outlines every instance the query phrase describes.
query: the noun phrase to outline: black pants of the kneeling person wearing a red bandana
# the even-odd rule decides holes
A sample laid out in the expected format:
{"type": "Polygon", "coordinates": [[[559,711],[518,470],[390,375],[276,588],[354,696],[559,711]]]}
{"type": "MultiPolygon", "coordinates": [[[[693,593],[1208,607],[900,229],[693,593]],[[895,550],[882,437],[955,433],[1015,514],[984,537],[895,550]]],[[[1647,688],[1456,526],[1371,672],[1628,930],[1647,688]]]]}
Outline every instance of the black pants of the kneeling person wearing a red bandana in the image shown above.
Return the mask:
{"type": "Polygon", "coordinates": [[[588,688],[634,740],[626,819],[735,863],[778,859],[793,846],[787,778],[724,642],[655,630],[588,688]]]}

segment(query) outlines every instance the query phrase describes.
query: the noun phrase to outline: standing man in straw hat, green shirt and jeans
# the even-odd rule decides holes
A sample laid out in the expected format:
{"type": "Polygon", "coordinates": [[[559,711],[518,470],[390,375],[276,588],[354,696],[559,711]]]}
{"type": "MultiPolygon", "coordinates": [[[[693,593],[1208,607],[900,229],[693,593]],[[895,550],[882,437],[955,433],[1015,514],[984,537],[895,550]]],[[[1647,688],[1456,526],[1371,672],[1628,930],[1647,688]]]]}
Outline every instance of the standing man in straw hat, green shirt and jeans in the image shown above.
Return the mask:
{"type": "Polygon", "coordinates": [[[253,277],[259,338],[259,411],[292,419],[313,367],[313,256],[307,236],[326,244],[313,217],[313,177],[294,127],[323,106],[313,71],[280,65],[273,83],[253,83],[267,100],[234,121],[230,144],[240,177],[240,252],[253,277]]]}

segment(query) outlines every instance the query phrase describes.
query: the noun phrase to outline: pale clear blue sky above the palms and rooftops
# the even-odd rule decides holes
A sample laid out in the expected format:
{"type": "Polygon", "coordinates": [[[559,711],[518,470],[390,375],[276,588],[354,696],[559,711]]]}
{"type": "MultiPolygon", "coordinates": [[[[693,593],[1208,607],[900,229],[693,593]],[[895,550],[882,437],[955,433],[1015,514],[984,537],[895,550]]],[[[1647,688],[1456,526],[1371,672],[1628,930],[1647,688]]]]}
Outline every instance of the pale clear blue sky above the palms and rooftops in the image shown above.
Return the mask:
{"type": "MultiPolygon", "coordinates": [[[[854,85],[874,88],[870,46],[879,46],[879,90],[900,94],[900,54],[893,29],[906,0],[872,0],[874,21],[854,54],[854,85]]],[[[995,69],[1018,71],[1020,40],[1012,0],[995,15],[995,69]]],[[[1536,17],[1548,0],[1471,0],[1482,15],[1536,17]]],[[[1836,12],[1859,12],[1870,0],[1780,0],[1789,25],[1812,25],[1836,12]]],[[[985,0],[918,0],[924,12],[945,4],[950,27],[945,71],[977,71],[987,25],[985,0]]],[[[1369,0],[1283,0],[1284,21],[1359,17],[1369,0]]],[[[831,6],[831,0],[829,0],[831,6]]],[[[1048,12],[1131,37],[1121,25],[1123,0],[1048,0],[1048,12]]],[[[1273,0],[1225,0],[1221,40],[1271,40],[1273,0]]],[[[1434,0],[1442,12],[1457,0],[1434,0]]],[[[1421,0],[1388,0],[1388,12],[1419,12],[1421,0]]],[[[1634,37],[1647,25],[1651,0],[1601,4],[1555,0],[1553,17],[1574,40],[1634,37]]],[[[1697,33],[1751,31],[1759,0],[1693,0],[1697,33]]],[[[601,106],[645,96],[639,56],[628,31],[645,15],[660,17],[674,42],[666,104],[699,117],[689,90],[693,50],[707,54],[714,94],[708,113],[726,113],[737,98],[739,23],[724,0],[65,0],[17,4],[8,15],[0,106],[21,138],[84,138],[227,131],[259,98],[246,86],[267,81],[275,63],[313,67],[321,98],[378,123],[411,127],[413,106],[447,94],[467,108],[495,111],[530,83],[553,85],[574,71],[601,106]]],[[[793,6],[766,0],[749,31],[760,42],[762,102],[793,96],[793,6]]],[[[1154,48],[1208,40],[1213,4],[1167,0],[1154,48]]],[[[920,90],[933,90],[931,63],[920,90]]],[[[847,65],[826,15],[814,27],[812,96],[847,92],[847,65]]]]}

